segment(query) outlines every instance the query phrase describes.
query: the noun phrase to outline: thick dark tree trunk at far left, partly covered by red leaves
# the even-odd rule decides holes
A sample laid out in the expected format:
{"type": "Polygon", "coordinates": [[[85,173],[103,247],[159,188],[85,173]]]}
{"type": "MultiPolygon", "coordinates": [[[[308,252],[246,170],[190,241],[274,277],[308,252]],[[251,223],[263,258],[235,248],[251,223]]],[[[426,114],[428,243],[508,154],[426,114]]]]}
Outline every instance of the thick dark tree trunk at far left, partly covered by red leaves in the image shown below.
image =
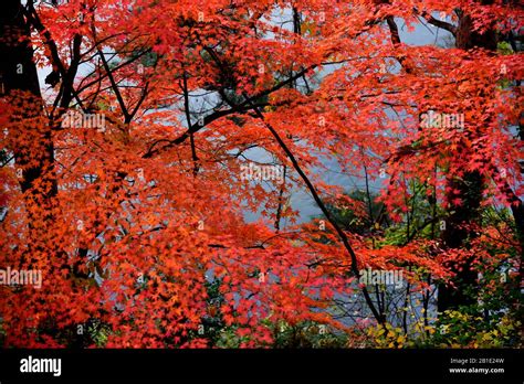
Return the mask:
{"type": "MultiPolygon", "coordinates": [[[[17,169],[22,172],[20,186],[25,194],[29,226],[32,231],[38,227],[45,230],[45,224],[52,218],[52,199],[57,193],[52,131],[45,124],[24,9],[20,0],[6,0],[2,6],[0,73],[6,100],[13,111],[9,116],[10,124],[18,128],[9,131],[14,139],[14,148],[10,149],[17,169]]],[[[38,236],[39,233],[33,235],[38,236]]]]}

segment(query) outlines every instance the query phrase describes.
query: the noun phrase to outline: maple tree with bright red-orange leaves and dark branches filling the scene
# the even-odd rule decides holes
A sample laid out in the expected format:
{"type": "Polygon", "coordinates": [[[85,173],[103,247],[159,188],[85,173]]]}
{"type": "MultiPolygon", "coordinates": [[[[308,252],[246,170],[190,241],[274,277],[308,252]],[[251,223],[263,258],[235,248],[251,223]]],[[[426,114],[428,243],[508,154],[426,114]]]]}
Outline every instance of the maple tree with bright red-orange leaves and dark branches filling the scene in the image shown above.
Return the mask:
{"type": "Polygon", "coordinates": [[[304,324],[356,345],[378,324],[400,346],[361,269],[405,274],[405,334],[412,297],[446,312],[520,288],[518,2],[3,9],[0,267],[43,274],[0,286],[4,345],[271,346],[304,324]],[[407,44],[400,22],[454,46],[407,44]],[[365,193],[325,182],[326,158],[365,193]],[[249,162],[282,179],[243,180],[249,162]],[[321,217],[297,222],[295,190],[321,217]]]}

